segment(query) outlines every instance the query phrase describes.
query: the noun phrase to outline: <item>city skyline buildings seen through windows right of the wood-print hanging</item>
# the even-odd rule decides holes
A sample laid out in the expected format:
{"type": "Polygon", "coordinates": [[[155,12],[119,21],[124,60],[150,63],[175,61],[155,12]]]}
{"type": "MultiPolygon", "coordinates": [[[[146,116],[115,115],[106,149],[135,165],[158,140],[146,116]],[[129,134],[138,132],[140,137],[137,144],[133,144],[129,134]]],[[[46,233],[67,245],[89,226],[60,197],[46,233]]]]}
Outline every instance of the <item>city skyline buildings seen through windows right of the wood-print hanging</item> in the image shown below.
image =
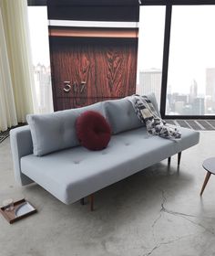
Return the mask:
{"type": "MultiPolygon", "coordinates": [[[[199,84],[193,79],[189,84],[189,93],[168,91],[166,114],[168,115],[204,115],[215,113],[215,68],[205,69],[206,93],[198,93],[199,84]],[[208,94],[207,94],[208,93],[208,94]]],[[[161,69],[146,69],[139,71],[138,94],[154,92],[160,103],[161,69]]]]}

